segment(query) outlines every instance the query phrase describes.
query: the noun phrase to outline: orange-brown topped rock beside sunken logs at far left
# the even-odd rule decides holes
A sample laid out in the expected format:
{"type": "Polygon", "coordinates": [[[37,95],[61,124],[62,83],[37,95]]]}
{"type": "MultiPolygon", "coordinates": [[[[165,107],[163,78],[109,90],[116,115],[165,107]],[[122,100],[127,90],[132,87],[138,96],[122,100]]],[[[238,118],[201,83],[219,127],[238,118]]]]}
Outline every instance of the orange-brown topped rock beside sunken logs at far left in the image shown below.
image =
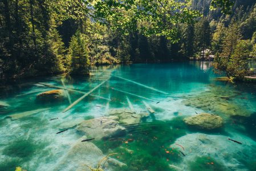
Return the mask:
{"type": "Polygon", "coordinates": [[[65,92],[63,89],[54,89],[40,93],[36,96],[36,100],[47,102],[47,101],[62,101],[65,98],[65,92]]]}

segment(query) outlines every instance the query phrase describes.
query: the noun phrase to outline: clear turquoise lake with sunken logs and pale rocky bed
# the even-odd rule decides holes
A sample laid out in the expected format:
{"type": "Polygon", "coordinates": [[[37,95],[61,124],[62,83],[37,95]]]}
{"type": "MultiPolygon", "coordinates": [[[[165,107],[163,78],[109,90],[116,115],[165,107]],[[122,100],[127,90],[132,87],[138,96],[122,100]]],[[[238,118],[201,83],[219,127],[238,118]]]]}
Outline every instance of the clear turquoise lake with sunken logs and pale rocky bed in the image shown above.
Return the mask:
{"type": "Polygon", "coordinates": [[[210,62],[173,62],[9,84],[0,90],[0,170],[91,170],[109,154],[100,169],[256,170],[256,84],[221,76],[210,62]],[[36,97],[63,87],[61,99],[36,97]],[[222,127],[184,122],[200,113],[222,127]]]}

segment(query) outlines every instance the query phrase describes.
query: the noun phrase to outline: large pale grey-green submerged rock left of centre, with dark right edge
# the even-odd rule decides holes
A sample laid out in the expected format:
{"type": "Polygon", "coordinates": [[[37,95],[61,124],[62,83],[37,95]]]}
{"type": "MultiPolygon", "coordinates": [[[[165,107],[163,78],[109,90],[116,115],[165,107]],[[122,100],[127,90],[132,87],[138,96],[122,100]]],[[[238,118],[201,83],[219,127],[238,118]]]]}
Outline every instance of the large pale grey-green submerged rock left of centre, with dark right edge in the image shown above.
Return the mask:
{"type": "Polygon", "coordinates": [[[125,128],[121,127],[116,120],[108,117],[100,117],[97,119],[84,120],[76,127],[79,131],[86,133],[90,138],[96,140],[103,137],[112,137],[125,134],[125,128]]]}

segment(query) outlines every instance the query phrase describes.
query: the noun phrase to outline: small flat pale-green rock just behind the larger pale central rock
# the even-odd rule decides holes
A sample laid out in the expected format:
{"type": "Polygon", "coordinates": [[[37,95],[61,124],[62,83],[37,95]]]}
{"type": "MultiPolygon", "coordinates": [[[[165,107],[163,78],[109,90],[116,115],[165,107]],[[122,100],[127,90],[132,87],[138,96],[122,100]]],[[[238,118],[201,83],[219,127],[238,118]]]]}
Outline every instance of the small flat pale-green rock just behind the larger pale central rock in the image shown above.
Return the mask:
{"type": "Polygon", "coordinates": [[[114,116],[113,120],[119,121],[120,124],[138,124],[143,117],[147,117],[148,113],[142,112],[136,114],[129,109],[111,109],[108,112],[109,116],[114,116]]]}

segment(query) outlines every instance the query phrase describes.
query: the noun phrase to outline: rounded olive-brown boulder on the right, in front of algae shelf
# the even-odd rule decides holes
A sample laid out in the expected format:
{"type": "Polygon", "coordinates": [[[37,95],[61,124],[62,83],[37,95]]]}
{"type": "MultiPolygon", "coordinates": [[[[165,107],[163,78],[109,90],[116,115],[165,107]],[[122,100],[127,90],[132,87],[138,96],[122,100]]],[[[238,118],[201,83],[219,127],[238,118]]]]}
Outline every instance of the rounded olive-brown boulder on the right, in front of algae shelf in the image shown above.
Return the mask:
{"type": "Polygon", "coordinates": [[[201,113],[196,116],[186,117],[184,122],[193,127],[203,129],[216,129],[221,128],[223,125],[223,120],[220,116],[208,113],[201,113]]]}

